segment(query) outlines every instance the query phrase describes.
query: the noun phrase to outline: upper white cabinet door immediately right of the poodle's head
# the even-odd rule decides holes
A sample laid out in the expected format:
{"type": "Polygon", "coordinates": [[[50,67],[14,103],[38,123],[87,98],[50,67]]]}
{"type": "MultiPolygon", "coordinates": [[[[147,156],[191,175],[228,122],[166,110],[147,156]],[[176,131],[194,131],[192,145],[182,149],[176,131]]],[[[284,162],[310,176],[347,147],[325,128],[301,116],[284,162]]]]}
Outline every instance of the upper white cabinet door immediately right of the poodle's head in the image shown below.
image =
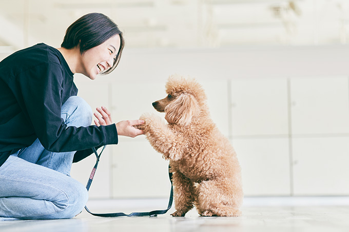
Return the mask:
{"type": "Polygon", "coordinates": [[[287,135],[287,79],[231,81],[232,135],[287,135]]]}

